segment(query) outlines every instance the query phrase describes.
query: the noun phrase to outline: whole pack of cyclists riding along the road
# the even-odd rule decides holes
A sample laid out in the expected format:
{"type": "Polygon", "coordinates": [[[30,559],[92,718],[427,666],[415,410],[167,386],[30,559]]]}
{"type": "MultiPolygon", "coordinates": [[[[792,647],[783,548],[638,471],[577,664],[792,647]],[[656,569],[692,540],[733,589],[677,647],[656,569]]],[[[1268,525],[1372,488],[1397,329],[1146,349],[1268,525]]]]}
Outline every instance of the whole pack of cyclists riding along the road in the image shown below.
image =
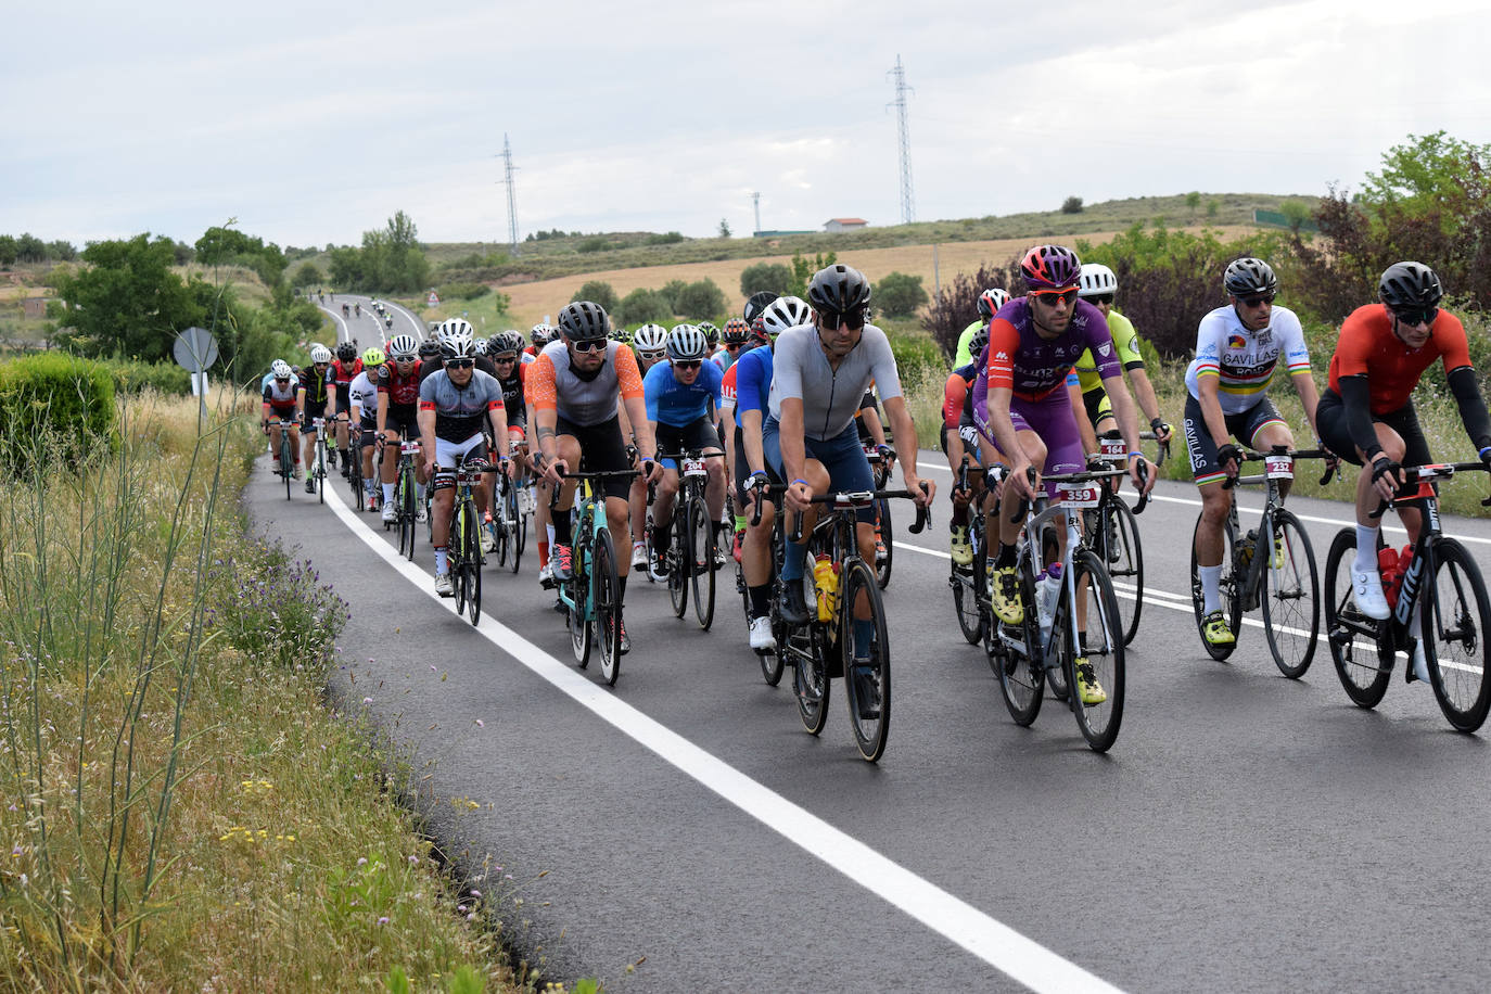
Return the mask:
{"type": "MultiPolygon", "coordinates": [[[[971,522],[983,514],[987,548],[977,551],[987,557],[989,602],[1003,624],[1020,624],[1032,605],[1015,562],[1023,519],[997,514],[999,504],[1029,502],[1042,493],[1056,499],[1057,489],[1045,477],[1085,469],[1105,437],[1121,440],[1126,475],[1138,493],[1148,495],[1156,472],[1141,450],[1141,414],[1150,437],[1172,438],[1136,331],[1115,306],[1117,274],[1082,264],[1057,244],[1032,247],[1020,273],[1023,292],[990,288],[978,298],[978,317],[960,337],[947,380],[941,431],[954,480],[968,481],[951,493],[950,554],[954,563],[972,560],[971,522]],[[981,472],[969,475],[968,465],[981,472]]],[[[1443,288],[1427,265],[1397,262],[1382,274],[1378,300],[1342,325],[1321,392],[1299,319],[1275,303],[1279,283],[1272,267],[1257,258],[1235,259],[1221,274],[1221,291],[1226,303],[1197,328],[1179,432],[1202,502],[1194,535],[1205,601],[1202,638],[1214,647],[1235,639],[1218,593],[1230,508],[1224,484],[1238,478],[1245,447],[1294,449],[1290,425],[1269,399],[1281,374],[1299,393],[1327,460],[1361,466],[1352,599],[1366,617],[1387,618],[1375,514],[1379,501],[1410,496],[1415,487],[1405,486],[1403,468],[1430,459],[1410,393],[1436,359],[1443,362],[1479,460],[1491,468],[1491,417],[1464,326],[1439,307],[1443,288]]],[[[757,294],[723,329],[647,323],[628,332],[614,328],[599,304],[576,301],[552,326],[535,325],[526,340],[517,331],[482,338],[467,320],[450,319],[425,341],[394,335],[361,355],[352,344],[338,346],[335,356],[315,346],[298,379],[283,361],[265,377],[265,432],[279,452],[279,420],[298,423],[307,434],[309,459],[313,422],[325,417],[335,398],[330,423],[343,474],[349,432],[359,432],[364,510],[382,507],[386,522],[397,514],[400,441],[419,440],[416,507],[423,520],[428,486],[434,586],[443,596],[452,592],[446,545],[458,463],[477,462],[488,474],[528,484],[546,587],[568,581],[576,569],[576,474],[604,474],[595,489],[608,532],[622,545],[613,550],[617,612],[632,571],[666,578],[680,456],[702,458],[705,502],[719,532],[710,554],[722,566],[725,550],[734,548],[748,604],[750,648],[769,653],[780,633],[774,614],[787,624],[814,617],[802,577],[807,536],[825,495],[875,492],[871,458],[880,452],[887,465],[899,465],[918,507],[929,508],[936,496],[933,481],[917,474],[915,426],[890,341],[871,323],[869,280],[853,267],[829,265],[811,277],[805,297],[757,294]],[[886,422],[892,438],[912,450],[899,460],[886,446],[886,422]],[[775,528],[778,514],[786,516],[781,529],[775,528]],[[775,548],[774,535],[781,535],[775,548]],[[628,538],[631,556],[625,554],[628,538]]],[[[298,456],[300,447],[292,449],[298,456]]],[[[307,489],[313,481],[307,480],[307,489]]],[[[1287,481],[1281,492],[1287,495],[1287,481]]],[[[476,501],[489,520],[491,487],[479,487],[476,501]]],[[[877,511],[863,505],[854,516],[859,556],[874,563],[884,556],[877,511]]],[[[1421,520],[1413,507],[1403,508],[1403,520],[1416,539],[1421,520]]],[[[1057,531],[1056,538],[1051,554],[1059,557],[1066,536],[1057,531]]],[[[1260,536],[1264,554],[1270,539],[1281,541],[1260,536]]],[[[620,633],[625,653],[625,621],[620,633]]],[[[857,657],[868,638],[856,617],[847,659],[857,657]]],[[[1091,668],[1078,659],[1074,669],[1077,699],[1082,706],[1100,705],[1106,691],[1091,668]]],[[[1422,645],[1413,654],[1413,674],[1428,678],[1422,645]]],[[[866,699],[872,705],[875,688],[860,690],[860,706],[866,699]]]]}

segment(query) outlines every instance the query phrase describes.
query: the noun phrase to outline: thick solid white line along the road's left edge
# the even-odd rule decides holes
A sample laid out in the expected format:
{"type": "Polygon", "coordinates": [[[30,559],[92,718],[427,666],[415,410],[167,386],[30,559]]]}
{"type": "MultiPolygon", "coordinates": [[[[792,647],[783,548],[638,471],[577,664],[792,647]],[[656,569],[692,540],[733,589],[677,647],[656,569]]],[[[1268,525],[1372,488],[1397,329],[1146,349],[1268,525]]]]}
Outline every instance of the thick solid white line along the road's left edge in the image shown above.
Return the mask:
{"type": "MultiPolygon", "coordinates": [[[[400,575],[452,614],[456,612],[453,599],[435,596],[428,572],[380,541],[359,520],[361,516],[347,508],[338,487],[327,487],[327,502],[352,534],[400,575]]],[[[476,629],[476,633],[786,841],[1030,990],[1118,990],[753,781],[729,763],[625,703],[610,688],[581,677],[497,618],[483,614],[482,627],[476,629]]]]}

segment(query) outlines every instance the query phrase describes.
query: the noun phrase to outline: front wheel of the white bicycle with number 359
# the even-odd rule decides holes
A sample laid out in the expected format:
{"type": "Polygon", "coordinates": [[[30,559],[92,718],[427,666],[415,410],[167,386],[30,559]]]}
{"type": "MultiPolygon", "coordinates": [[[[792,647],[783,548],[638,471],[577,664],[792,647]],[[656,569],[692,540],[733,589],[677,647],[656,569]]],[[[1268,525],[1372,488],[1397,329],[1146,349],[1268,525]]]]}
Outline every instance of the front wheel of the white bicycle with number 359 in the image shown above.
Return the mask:
{"type": "Polygon", "coordinates": [[[1087,659],[1093,678],[1108,694],[1105,702],[1094,705],[1084,705],[1077,693],[1072,693],[1071,700],[1077,727],[1081,729],[1087,745],[1097,753],[1106,753],[1118,738],[1118,726],[1123,724],[1123,615],[1118,614],[1118,596],[1114,593],[1112,580],[1091,550],[1078,550],[1072,557],[1072,569],[1075,571],[1072,578],[1077,581],[1074,589],[1079,590],[1082,581],[1087,581],[1087,596],[1078,598],[1077,632],[1066,630],[1071,612],[1063,590],[1051,639],[1069,684],[1075,687],[1077,654],[1079,654],[1087,659]]]}

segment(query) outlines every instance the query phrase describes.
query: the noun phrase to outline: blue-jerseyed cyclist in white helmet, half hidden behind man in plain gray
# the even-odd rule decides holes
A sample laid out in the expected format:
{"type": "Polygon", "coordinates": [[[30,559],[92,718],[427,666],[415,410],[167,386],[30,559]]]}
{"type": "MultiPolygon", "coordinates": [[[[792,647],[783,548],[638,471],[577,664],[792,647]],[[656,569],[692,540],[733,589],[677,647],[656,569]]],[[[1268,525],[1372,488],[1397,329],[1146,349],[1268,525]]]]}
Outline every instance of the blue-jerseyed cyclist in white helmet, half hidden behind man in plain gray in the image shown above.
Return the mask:
{"type": "Polygon", "coordinates": [[[750,647],[756,651],[777,648],[771,633],[771,532],[777,516],[775,504],[766,496],[768,484],[780,484],[762,449],[760,431],[768,416],[771,393],[772,343],[789,328],[811,326],[813,310],[799,297],[772,300],[757,317],[768,344],[751,349],[731,367],[735,371],[735,496],[746,514],[746,536],[741,544],[741,574],[750,598],[750,647]],[[760,492],[760,520],[750,525],[754,499],[760,492]]]}

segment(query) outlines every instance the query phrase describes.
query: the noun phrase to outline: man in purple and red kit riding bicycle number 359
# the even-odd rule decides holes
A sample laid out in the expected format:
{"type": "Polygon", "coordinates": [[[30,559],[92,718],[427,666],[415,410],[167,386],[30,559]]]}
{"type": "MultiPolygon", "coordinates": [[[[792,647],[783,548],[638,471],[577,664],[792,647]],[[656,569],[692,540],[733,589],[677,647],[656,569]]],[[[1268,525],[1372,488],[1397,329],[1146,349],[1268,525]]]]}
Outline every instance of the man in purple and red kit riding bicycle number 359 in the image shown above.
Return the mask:
{"type": "MultiPolygon", "coordinates": [[[[1071,249],[1035,246],[1020,261],[1029,288],[1026,295],[1000,307],[989,322],[989,361],[974,384],[974,414],[986,437],[1008,456],[1009,478],[1023,499],[1035,498],[1026,469],[1038,468],[1039,483],[1042,472],[1077,472],[1087,465],[1072,395],[1066,389],[1068,371],[1085,349],[1097,356],[1100,376],[1111,384],[1118,426],[1129,443],[1129,474],[1145,493],[1154,486],[1154,475],[1139,452],[1133,398],[1123,383],[1108,322],[1102,311],[1077,297],[1081,268],[1071,249]]],[[[1056,487],[1047,484],[1047,495],[1056,498],[1056,487]]],[[[1020,624],[1024,605],[1020,602],[1015,539],[1021,523],[1011,522],[1008,514],[999,514],[997,523],[999,553],[990,569],[992,607],[1000,621],[1020,624]]],[[[1057,536],[1065,557],[1066,531],[1059,528],[1057,536]]],[[[1085,633],[1078,632],[1078,636],[1085,633]]],[[[1077,694],[1085,705],[1108,699],[1085,656],[1077,660],[1077,694]]]]}

